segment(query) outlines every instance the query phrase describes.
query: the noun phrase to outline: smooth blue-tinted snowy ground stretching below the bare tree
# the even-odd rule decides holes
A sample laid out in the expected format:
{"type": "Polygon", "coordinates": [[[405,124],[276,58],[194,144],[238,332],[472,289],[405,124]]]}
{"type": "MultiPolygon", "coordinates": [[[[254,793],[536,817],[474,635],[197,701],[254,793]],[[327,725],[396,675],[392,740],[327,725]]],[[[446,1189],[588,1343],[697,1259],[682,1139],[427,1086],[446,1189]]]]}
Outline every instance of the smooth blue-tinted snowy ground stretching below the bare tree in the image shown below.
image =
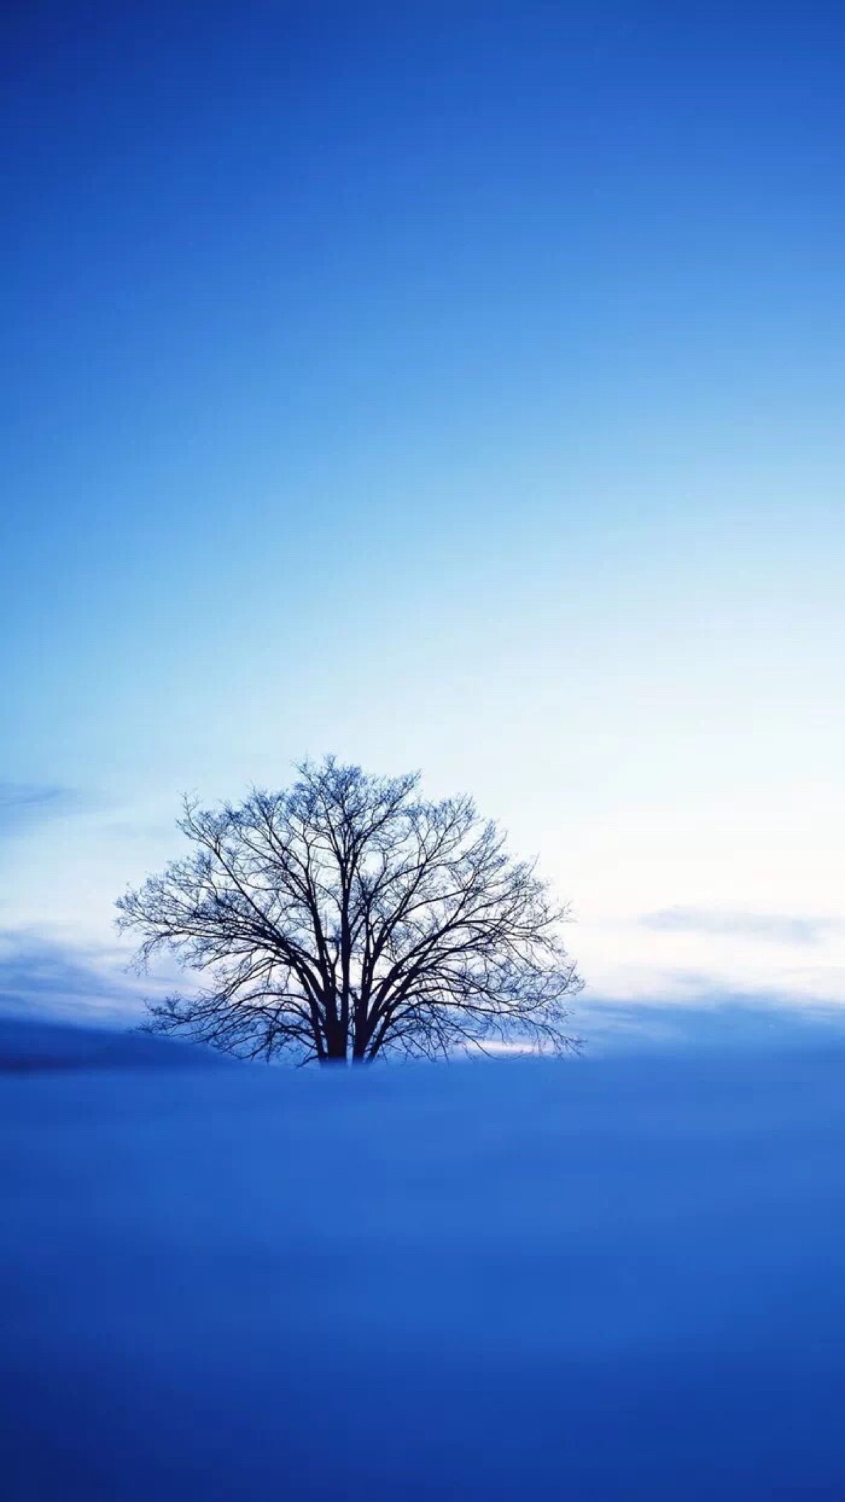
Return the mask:
{"type": "Polygon", "coordinates": [[[6,1502],[845,1497],[833,1030],[309,1074],[15,1026],[6,1502]]]}

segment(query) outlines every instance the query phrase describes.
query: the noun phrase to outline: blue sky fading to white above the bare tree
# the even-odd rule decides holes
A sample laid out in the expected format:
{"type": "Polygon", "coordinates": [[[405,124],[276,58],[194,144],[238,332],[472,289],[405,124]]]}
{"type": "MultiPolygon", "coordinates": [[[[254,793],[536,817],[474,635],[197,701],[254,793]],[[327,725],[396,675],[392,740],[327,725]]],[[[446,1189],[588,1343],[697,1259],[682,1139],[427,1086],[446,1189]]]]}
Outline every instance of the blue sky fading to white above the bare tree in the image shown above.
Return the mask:
{"type": "Polygon", "coordinates": [[[332,749],[474,792],[602,994],[843,996],[840,8],[2,54],[8,946],[332,749]]]}

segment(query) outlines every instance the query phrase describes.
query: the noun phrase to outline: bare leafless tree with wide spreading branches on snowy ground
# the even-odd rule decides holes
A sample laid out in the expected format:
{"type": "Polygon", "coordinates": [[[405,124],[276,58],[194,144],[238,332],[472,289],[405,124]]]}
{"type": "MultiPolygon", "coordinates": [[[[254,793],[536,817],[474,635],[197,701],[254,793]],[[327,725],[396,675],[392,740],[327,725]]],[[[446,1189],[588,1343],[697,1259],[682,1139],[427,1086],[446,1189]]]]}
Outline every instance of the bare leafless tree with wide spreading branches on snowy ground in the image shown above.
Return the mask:
{"type": "Polygon", "coordinates": [[[468,798],[425,802],[417,784],[329,757],[239,807],[186,799],[192,852],[117,903],[141,966],[164,949],[206,978],[149,1026],[303,1062],[570,1047],[566,909],[468,798]]]}

